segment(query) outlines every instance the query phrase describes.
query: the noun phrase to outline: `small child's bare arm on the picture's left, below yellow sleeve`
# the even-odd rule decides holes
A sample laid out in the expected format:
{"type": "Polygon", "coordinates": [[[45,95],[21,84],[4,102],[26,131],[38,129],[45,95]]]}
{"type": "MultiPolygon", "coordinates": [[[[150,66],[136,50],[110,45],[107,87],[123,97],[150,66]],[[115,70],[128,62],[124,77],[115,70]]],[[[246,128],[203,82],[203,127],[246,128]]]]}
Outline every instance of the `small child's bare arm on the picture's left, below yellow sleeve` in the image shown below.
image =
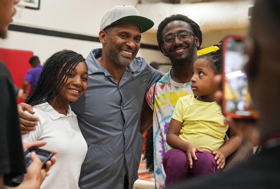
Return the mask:
{"type": "Polygon", "coordinates": [[[182,125],[183,125],[182,122],[177,121],[173,118],[171,119],[168,130],[167,130],[167,134],[166,134],[166,142],[172,148],[177,148],[177,149],[182,150],[183,152],[187,153],[188,162],[189,162],[190,168],[192,168],[192,158],[197,160],[195,153],[203,152],[203,150],[201,148],[199,148],[198,146],[193,145],[192,143],[183,141],[179,137],[182,125]]]}

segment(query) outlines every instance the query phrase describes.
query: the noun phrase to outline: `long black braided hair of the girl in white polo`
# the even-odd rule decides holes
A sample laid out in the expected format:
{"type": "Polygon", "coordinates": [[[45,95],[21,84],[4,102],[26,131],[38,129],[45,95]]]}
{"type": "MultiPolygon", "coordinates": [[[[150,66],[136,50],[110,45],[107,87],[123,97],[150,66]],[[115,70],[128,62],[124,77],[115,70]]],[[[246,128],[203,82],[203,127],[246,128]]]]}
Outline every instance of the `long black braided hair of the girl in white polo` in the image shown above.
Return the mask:
{"type": "Polygon", "coordinates": [[[62,89],[71,71],[85,59],[81,54],[72,50],[62,50],[50,56],[33,88],[29,93],[26,104],[35,106],[50,102],[62,89]]]}

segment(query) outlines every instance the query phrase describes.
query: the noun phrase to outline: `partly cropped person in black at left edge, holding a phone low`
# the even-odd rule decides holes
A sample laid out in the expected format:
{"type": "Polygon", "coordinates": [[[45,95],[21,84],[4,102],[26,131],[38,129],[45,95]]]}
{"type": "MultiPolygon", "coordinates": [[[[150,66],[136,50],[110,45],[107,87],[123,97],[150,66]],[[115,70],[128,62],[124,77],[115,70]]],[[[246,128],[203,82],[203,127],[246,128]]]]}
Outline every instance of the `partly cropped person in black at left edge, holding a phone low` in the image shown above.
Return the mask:
{"type": "MultiPolygon", "coordinates": [[[[0,38],[7,37],[7,29],[12,17],[15,14],[14,4],[19,0],[1,0],[0,1],[0,38]]],[[[22,143],[20,137],[20,127],[17,114],[15,88],[10,73],[6,66],[0,61],[0,189],[8,188],[11,185],[11,178],[25,173],[25,163],[23,151],[31,147],[44,146],[46,142],[22,143]]],[[[56,150],[52,150],[54,154],[56,150]]],[[[17,188],[37,189],[48,176],[47,171],[55,163],[55,157],[48,161],[45,169],[42,168],[42,162],[35,154],[31,154],[32,163],[27,169],[23,182],[17,188]]]]}

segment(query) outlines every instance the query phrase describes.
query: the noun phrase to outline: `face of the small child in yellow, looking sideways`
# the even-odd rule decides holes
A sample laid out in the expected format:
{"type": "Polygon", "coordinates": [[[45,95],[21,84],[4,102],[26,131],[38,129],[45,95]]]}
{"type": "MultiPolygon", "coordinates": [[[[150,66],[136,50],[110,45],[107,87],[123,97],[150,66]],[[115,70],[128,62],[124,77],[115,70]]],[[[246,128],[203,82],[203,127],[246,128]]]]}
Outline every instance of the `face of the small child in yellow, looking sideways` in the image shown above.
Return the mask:
{"type": "Polygon", "coordinates": [[[198,58],[193,63],[193,76],[191,78],[191,89],[195,96],[212,97],[216,92],[214,85],[215,71],[211,62],[204,58],[198,58]]]}

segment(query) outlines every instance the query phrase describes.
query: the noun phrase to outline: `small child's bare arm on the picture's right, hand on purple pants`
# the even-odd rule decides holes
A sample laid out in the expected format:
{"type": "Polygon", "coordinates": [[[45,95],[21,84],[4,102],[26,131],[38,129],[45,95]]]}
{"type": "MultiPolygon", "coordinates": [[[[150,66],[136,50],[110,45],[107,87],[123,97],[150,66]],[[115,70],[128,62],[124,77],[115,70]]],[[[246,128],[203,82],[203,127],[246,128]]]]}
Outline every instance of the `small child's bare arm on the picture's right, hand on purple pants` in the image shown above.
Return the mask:
{"type": "Polygon", "coordinates": [[[225,158],[239,148],[242,141],[242,133],[230,129],[229,139],[219,150],[212,150],[212,154],[216,155],[217,169],[225,167],[225,158]]]}

